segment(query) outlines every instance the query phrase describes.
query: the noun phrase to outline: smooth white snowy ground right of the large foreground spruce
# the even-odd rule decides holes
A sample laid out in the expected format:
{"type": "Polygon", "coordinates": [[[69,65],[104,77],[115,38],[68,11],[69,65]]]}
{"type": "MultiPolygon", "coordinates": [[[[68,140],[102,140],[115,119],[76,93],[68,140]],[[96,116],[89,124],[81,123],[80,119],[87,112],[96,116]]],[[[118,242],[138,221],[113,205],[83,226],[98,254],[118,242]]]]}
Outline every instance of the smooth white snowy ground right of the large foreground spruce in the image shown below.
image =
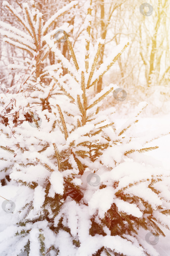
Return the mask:
{"type": "MultiPolygon", "coordinates": [[[[117,126],[121,126],[121,124],[123,124],[125,121],[125,119],[121,118],[116,121],[116,124],[117,126]]],[[[138,132],[146,133],[159,131],[161,134],[167,131],[168,127],[170,132],[170,114],[162,116],[160,115],[159,117],[141,118],[136,124],[136,130],[138,132]]],[[[144,154],[154,157],[156,161],[161,161],[165,169],[170,169],[170,134],[161,136],[161,138],[148,143],[147,146],[158,146],[159,148],[144,154]]],[[[155,241],[155,245],[152,246],[157,250],[160,256],[170,256],[170,231],[167,229],[163,229],[163,231],[166,234],[166,237],[160,236],[158,239],[154,236],[151,236],[150,241],[153,244],[155,241]]],[[[147,233],[148,231],[141,230],[140,236],[144,238],[147,233]]]]}

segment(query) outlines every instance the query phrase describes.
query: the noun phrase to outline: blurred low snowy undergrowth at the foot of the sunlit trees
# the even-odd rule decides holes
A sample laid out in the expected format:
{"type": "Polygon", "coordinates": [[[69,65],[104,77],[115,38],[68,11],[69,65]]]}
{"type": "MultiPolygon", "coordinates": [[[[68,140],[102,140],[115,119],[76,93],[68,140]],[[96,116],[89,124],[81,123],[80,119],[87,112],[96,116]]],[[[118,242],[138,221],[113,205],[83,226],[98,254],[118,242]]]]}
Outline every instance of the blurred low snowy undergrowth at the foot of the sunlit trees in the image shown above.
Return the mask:
{"type": "Polygon", "coordinates": [[[133,86],[124,88],[127,93],[127,97],[124,99],[124,101],[119,102],[114,97],[110,97],[104,101],[102,108],[107,109],[110,106],[114,106],[117,109],[116,116],[118,118],[127,118],[133,113],[133,109],[138,102],[144,100],[148,103],[148,107],[142,112],[142,117],[154,118],[157,116],[159,118],[159,116],[162,116],[162,114],[164,116],[169,114],[170,89],[168,86],[154,85],[147,88],[143,87],[142,89],[138,89],[138,87],[134,89],[133,86]]]}

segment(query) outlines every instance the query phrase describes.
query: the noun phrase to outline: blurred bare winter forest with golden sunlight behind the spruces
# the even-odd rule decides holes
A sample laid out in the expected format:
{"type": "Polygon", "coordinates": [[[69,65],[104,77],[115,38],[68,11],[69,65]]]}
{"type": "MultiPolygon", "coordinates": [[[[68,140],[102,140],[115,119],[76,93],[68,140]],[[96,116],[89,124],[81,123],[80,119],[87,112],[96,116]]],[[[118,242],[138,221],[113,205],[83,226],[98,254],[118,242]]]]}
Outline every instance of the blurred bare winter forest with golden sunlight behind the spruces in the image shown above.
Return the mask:
{"type": "MultiPolygon", "coordinates": [[[[22,13],[22,3],[25,0],[8,0],[18,12],[22,13]]],[[[59,8],[70,0],[35,0],[27,3],[39,9],[46,22],[59,8]]],[[[85,0],[78,0],[78,5],[70,12],[62,15],[55,27],[67,22],[72,27],[69,36],[73,38],[75,52],[79,51],[80,39],[84,35],[83,22],[85,19],[85,0]]],[[[147,101],[148,108],[145,115],[168,113],[170,109],[170,0],[154,0],[149,4],[153,7],[150,16],[140,13],[139,7],[143,0],[93,0],[93,21],[91,36],[95,44],[97,38],[105,39],[100,53],[100,63],[114,50],[114,46],[120,44],[121,39],[131,40],[130,46],[118,59],[111,70],[94,87],[95,95],[101,88],[110,83],[117,84],[127,92],[127,98],[123,102],[110,97],[105,101],[104,108],[113,105],[119,114],[126,115],[133,110],[134,105],[140,101],[147,101]]],[[[16,28],[18,20],[3,7],[0,7],[1,21],[16,28]]],[[[1,32],[1,30],[0,30],[1,32]]],[[[28,68],[27,58],[31,53],[14,47],[10,42],[10,34],[5,36],[0,33],[0,81],[6,86],[15,85],[15,81],[26,72],[28,68]],[[15,63],[15,64],[14,64],[15,63]],[[18,64],[17,64],[18,63],[18,64]]],[[[18,42],[19,43],[19,42],[18,42]]],[[[58,43],[63,55],[71,61],[67,42],[58,43]]],[[[43,52],[43,48],[42,48],[43,52]]],[[[78,54],[77,54],[78,56],[78,54]]],[[[50,75],[44,75],[47,65],[57,64],[53,53],[49,53],[43,64],[36,71],[37,77],[48,86],[50,75]],[[38,74],[37,74],[38,72],[38,74]]],[[[63,70],[63,74],[66,74],[63,70]]]]}

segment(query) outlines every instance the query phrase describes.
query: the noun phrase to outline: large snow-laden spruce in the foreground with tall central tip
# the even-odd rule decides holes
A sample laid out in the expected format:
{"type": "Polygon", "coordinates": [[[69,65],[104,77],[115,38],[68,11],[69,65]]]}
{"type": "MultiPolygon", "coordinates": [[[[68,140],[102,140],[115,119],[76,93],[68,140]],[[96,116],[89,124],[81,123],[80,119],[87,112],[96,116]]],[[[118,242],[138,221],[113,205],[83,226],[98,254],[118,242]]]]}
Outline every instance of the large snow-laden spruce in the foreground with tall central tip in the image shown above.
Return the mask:
{"type": "Polygon", "coordinates": [[[91,12],[89,4],[82,42],[85,57],[80,63],[68,37],[74,66],[54,40],[45,37],[70,75],[69,83],[63,83],[52,74],[65,99],[56,102],[53,95],[51,112],[37,110],[41,125],[34,120],[31,127],[24,121],[13,128],[13,136],[12,122],[0,126],[1,160],[12,166],[8,189],[15,191],[10,199],[16,204],[13,214],[0,212],[1,255],[155,256],[158,253],[138,232],[165,236],[161,226],[169,228],[169,173],[141,157],[156,148],[146,144],[158,134],[134,133],[146,103],[140,103],[134,118],[116,129],[115,109],[100,110],[100,106],[117,86],[110,84],[88,99],[89,88],[128,46],[117,46],[96,70],[103,41],[97,41],[90,56],[91,12]]]}

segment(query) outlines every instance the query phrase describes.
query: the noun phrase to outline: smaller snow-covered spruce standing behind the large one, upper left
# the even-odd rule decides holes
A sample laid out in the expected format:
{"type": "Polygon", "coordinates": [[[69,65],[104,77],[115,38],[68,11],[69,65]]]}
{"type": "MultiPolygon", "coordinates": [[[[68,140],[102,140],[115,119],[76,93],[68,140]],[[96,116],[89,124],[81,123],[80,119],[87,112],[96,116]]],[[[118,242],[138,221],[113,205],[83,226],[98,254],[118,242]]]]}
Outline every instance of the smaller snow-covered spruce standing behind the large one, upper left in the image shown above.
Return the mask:
{"type": "MultiPolygon", "coordinates": [[[[21,16],[7,1],[3,1],[4,7],[18,22],[18,27],[15,27],[0,21],[0,33],[4,36],[3,41],[23,51],[23,54],[22,52],[18,53],[15,63],[9,65],[9,68],[19,70],[20,76],[25,74],[26,78],[31,78],[27,80],[25,89],[29,88],[29,91],[32,92],[30,94],[32,102],[43,104],[44,108],[49,105],[49,93],[57,93],[55,82],[51,80],[48,71],[53,70],[58,72],[58,75],[62,73],[59,63],[50,65],[49,59],[46,58],[50,51],[44,36],[49,35],[54,38],[58,30],[65,30],[69,33],[73,26],[66,22],[55,29],[51,28],[58,18],[70,11],[76,4],[77,1],[71,1],[45,22],[42,13],[34,5],[30,8],[27,3],[23,3],[23,16],[21,16]]],[[[16,92],[15,85],[13,90],[16,92]]]]}

